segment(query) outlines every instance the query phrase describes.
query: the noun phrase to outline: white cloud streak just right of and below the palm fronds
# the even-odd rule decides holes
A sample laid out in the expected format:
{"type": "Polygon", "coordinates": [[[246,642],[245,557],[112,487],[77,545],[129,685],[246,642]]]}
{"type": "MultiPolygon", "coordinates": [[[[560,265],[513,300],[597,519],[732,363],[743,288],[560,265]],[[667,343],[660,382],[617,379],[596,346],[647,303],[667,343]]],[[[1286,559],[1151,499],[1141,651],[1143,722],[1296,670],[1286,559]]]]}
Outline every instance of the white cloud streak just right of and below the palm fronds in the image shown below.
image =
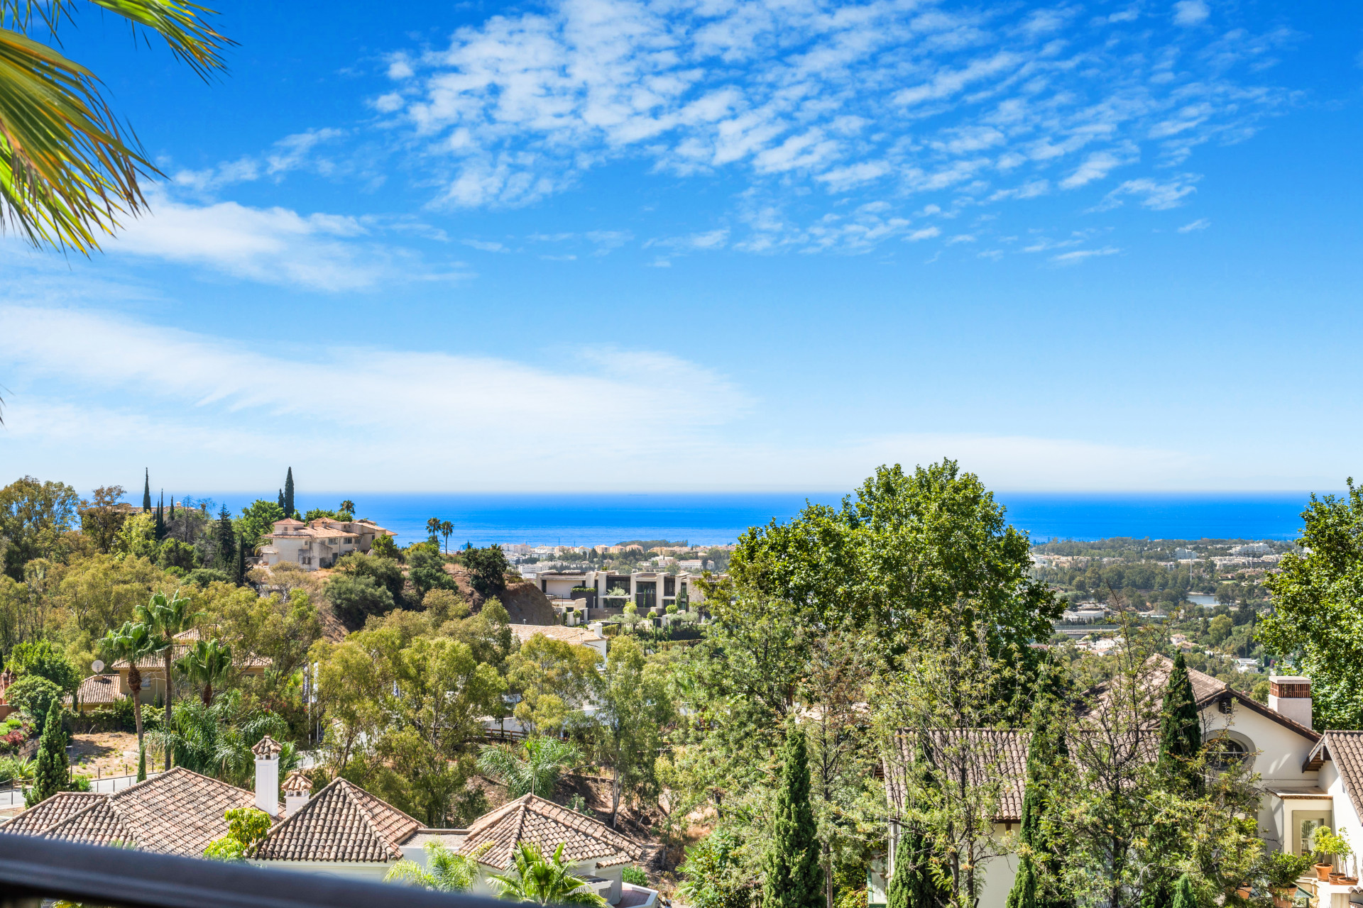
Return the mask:
{"type": "Polygon", "coordinates": [[[162,193],[149,200],[150,214],[129,219],[106,244],[109,255],[323,291],[369,290],[383,282],[438,276],[413,253],[376,241],[373,230],[357,218],[251,208],[236,201],[194,206],[162,193]]]}

